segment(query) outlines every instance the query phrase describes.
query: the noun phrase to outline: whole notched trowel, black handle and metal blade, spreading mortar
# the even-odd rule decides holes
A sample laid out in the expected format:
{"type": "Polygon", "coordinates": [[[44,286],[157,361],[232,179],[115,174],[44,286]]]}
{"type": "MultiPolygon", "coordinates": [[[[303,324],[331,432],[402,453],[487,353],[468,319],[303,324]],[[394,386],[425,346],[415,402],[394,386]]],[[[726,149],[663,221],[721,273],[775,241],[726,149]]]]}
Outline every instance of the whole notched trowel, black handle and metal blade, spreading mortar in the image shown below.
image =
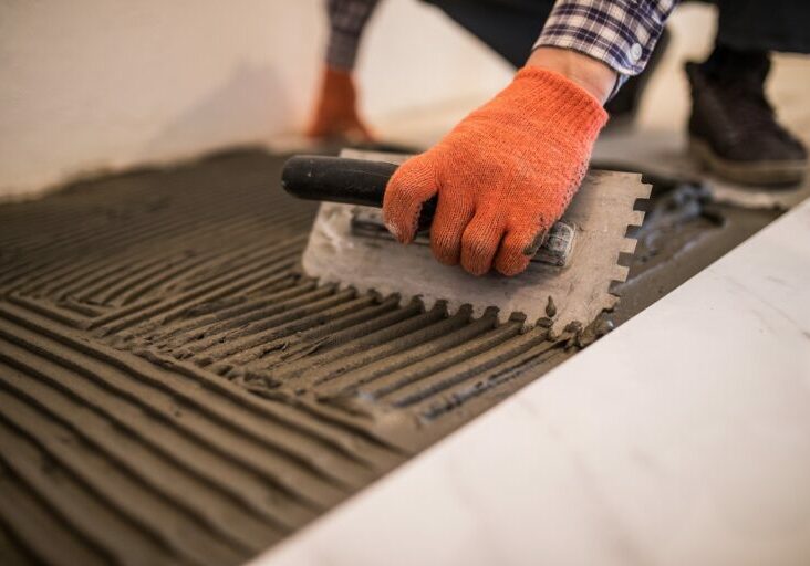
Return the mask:
{"type": "Polygon", "coordinates": [[[617,297],[611,282],[624,281],[627,268],[620,253],[631,254],[630,226],[641,226],[637,199],[650,197],[641,175],[589,171],[562,219],[541,241],[529,268],[515,277],[495,272],[477,277],[459,266],[438,263],[429,248],[435,199],[419,217],[412,245],[396,242],[380,212],[388,178],[407,155],[343,150],[341,157],[295,156],[284,165],[282,185],[295,197],[320,200],[321,208],[302,256],[304,272],[322,283],[398,293],[404,302],[418,296],[430,308],[446,301],[450,312],[464,304],[476,315],[498,308],[506,321],[526,315],[528,325],[553,314],[561,332],[572,322],[591,323],[617,297]],[[554,307],[547,308],[550,304],[554,307]]]}

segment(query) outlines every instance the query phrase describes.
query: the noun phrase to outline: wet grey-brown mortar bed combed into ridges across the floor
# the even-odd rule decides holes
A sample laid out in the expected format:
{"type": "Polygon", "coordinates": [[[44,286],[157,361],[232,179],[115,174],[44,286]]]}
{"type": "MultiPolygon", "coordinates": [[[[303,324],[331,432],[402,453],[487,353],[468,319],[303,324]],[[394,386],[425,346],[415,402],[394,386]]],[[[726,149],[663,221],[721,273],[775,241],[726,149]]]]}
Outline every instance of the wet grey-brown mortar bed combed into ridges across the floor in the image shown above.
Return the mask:
{"type": "Polygon", "coordinates": [[[778,216],[657,185],[619,306],[549,336],[300,275],[283,161],[0,206],[0,563],[241,564],[778,216]]]}

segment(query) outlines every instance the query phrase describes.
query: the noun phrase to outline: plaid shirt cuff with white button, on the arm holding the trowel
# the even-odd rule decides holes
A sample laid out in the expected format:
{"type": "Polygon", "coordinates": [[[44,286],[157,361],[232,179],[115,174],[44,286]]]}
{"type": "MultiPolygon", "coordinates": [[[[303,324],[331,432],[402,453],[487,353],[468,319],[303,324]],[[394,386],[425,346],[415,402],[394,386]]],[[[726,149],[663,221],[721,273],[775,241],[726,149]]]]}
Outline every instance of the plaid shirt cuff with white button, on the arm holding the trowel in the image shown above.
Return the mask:
{"type": "MultiPolygon", "coordinates": [[[[678,0],[557,0],[534,48],[579,51],[619,73],[644,70],[678,0]]],[[[614,91],[615,92],[615,91],[614,91]]]]}

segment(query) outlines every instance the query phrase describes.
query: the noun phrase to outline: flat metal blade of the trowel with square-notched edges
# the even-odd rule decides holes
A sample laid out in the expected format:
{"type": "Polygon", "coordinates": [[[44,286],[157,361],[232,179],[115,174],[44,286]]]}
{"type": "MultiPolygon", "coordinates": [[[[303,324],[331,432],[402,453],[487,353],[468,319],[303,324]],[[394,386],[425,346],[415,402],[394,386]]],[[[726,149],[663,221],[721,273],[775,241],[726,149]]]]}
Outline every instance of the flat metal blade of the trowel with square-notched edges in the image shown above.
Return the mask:
{"type": "MultiPolygon", "coordinates": [[[[390,163],[406,157],[356,151],[341,155],[390,163]]],[[[501,322],[515,314],[523,315],[527,326],[542,319],[544,326],[559,334],[574,322],[588,326],[615,305],[619,297],[611,286],[624,282],[629,271],[619,259],[634,253],[636,247],[636,240],[626,235],[627,229],[640,227],[644,220],[635,202],[648,198],[651,189],[641,181],[640,174],[589,171],[562,218],[577,231],[567,265],[532,262],[516,277],[495,273],[476,277],[458,266],[438,263],[427,245],[402,245],[354,234],[355,206],[323,202],[301,266],[322,284],[382,296],[398,294],[401,304],[418,298],[425,308],[444,301],[450,314],[465,304],[472,307],[476,317],[495,307],[501,322]],[[546,313],[549,297],[555,305],[551,321],[546,313]]]]}

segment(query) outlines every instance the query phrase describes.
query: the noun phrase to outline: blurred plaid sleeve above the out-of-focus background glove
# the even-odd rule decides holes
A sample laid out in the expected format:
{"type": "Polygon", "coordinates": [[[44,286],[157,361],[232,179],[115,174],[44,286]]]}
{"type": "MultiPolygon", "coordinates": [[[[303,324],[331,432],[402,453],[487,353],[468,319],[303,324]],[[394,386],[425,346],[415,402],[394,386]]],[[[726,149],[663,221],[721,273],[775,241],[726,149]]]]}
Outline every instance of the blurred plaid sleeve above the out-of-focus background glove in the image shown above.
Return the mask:
{"type": "Polygon", "coordinates": [[[354,67],[360,35],[376,6],[377,0],[329,0],[329,66],[344,70],[354,67]]]}

